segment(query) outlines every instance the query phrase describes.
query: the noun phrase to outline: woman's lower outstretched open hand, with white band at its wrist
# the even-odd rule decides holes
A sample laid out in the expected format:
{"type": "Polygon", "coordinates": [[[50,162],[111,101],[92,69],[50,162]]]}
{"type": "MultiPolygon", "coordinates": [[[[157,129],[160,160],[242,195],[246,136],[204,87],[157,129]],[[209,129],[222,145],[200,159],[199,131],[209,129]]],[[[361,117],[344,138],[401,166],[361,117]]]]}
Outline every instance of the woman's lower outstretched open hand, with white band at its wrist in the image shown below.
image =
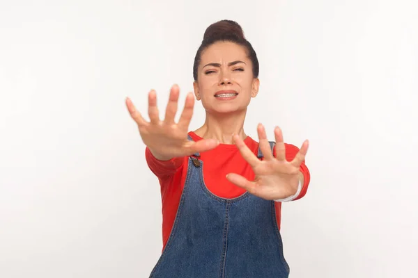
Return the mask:
{"type": "Polygon", "coordinates": [[[293,161],[286,161],[286,149],[281,129],[274,129],[276,140],[276,157],[273,156],[265,129],[262,124],[257,127],[258,138],[260,141],[261,152],[264,159],[260,161],[257,156],[245,145],[245,142],[238,135],[233,136],[235,145],[240,150],[242,157],[251,165],[255,178],[249,181],[239,174],[230,173],[226,179],[236,186],[244,188],[252,195],[263,199],[284,199],[294,195],[297,191],[297,185],[300,181],[300,165],[308,151],[309,141],[305,140],[296,154],[293,161]]]}

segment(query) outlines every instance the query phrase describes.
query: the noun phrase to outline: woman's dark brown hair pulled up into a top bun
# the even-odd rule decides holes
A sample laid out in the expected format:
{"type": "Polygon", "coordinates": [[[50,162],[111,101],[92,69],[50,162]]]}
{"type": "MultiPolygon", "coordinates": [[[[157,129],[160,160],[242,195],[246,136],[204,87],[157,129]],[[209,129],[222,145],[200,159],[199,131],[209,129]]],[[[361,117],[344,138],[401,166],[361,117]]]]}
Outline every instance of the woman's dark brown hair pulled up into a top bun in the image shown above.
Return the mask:
{"type": "Polygon", "coordinates": [[[254,51],[253,47],[245,39],[244,31],[240,24],[234,22],[232,20],[221,20],[219,22],[215,22],[211,24],[208,28],[206,28],[205,34],[203,35],[203,41],[201,46],[197,50],[196,56],[194,57],[194,65],[193,65],[193,78],[194,81],[197,81],[197,68],[201,62],[201,54],[202,52],[210,47],[210,45],[214,44],[215,42],[224,41],[224,42],[235,42],[236,44],[241,45],[247,49],[248,58],[252,62],[252,70],[254,78],[258,77],[258,58],[256,51],[254,51]]]}

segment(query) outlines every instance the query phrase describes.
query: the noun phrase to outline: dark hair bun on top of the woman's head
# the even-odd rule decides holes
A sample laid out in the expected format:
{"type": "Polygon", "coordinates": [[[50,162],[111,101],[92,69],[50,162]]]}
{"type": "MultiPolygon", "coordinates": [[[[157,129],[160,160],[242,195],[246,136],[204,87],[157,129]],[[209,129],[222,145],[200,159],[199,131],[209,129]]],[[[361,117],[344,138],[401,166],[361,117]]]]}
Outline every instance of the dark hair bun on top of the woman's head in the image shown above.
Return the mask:
{"type": "Polygon", "coordinates": [[[203,41],[217,40],[219,38],[235,37],[238,40],[245,40],[244,31],[240,24],[232,20],[221,20],[211,24],[206,28],[205,34],[203,35],[203,41]]]}

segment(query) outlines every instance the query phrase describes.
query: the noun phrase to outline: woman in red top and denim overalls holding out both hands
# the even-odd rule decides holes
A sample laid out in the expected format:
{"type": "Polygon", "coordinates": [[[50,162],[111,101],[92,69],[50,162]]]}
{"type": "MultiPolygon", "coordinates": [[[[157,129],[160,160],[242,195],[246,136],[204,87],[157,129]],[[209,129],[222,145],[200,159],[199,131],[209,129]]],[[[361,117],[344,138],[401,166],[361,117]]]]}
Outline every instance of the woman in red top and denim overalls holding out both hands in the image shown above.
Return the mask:
{"type": "Polygon", "coordinates": [[[239,24],[210,25],[193,66],[194,96],[178,123],[179,88],[171,88],[164,120],[148,95],[150,122],[126,99],[146,145],[146,161],[162,195],[163,251],[150,277],[288,277],[280,236],[281,202],[307,192],[308,141],[298,149],[274,129],[259,143],[243,126],[258,93],[258,60],[239,24]],[[194,97],[206,120],[188,131],[194,97]]]}

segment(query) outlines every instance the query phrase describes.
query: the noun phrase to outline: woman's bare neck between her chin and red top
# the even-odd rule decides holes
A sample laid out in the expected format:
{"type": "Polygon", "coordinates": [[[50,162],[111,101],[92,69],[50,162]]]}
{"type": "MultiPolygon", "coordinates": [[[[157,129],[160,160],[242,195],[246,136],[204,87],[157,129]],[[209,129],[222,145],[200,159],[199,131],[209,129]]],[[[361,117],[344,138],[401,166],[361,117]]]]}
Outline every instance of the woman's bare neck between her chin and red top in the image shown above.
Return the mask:
{"type": "Polygon", "coordinates": [[[244,120],[247,111],[235,114],[212,115],[206,112],[203,126],[194,133],[204,139],[217,139],[221,144],[233,144],[232,135],[238,134],[242,140],[247,138],[244,132],[244,120]]]}

